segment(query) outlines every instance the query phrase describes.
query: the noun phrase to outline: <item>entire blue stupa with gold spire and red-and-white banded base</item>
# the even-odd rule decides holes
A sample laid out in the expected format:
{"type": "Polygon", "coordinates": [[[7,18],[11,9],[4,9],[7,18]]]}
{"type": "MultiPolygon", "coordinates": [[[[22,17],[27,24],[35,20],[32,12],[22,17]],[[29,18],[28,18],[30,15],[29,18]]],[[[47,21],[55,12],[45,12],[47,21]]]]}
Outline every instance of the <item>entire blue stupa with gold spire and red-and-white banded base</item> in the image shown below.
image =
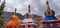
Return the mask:
{"type": "Polygon", "coordinates": [[[42,28],[60,28],[60,20],[55,17],[55,12],[50,9],[49,2],[46,0],[47,10],[45,12],[45,19],[42,22],[42,28]]]}

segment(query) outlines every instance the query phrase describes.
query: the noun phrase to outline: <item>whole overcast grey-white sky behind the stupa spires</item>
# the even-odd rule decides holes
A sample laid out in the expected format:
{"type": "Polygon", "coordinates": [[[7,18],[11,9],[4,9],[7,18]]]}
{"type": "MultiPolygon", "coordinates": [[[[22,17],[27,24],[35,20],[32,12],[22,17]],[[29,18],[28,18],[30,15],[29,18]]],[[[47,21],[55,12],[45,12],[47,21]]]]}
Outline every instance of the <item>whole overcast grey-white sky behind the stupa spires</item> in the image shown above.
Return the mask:
{"type": "MultiPolygon", "coordinates": [[[[4,11],[14,12],[15,8],[17,8],[17,13],[24,15],[27,13],[29,4],[31,6],[31,14],[44,16],[46,0],[6,0],[4,11]]],[[[49,6],[55,11],[56,15],[60,14],[60,0],[49,0],[49,6]]]]}

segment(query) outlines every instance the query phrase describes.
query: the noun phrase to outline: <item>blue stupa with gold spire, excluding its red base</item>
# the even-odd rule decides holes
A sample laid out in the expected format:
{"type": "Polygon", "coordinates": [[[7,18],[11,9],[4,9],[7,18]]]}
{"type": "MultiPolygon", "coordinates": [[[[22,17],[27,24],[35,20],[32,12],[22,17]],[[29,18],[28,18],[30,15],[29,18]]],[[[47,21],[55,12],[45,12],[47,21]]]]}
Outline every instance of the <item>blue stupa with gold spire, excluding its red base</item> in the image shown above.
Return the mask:
{"type": "Polygon", "coordinates": [[[50,9],[48,0],[46,1],[46,6],[47,6],[47,10],[45,12],[44,20],[55,20],[56,19],[55,12],[50,9]]]}

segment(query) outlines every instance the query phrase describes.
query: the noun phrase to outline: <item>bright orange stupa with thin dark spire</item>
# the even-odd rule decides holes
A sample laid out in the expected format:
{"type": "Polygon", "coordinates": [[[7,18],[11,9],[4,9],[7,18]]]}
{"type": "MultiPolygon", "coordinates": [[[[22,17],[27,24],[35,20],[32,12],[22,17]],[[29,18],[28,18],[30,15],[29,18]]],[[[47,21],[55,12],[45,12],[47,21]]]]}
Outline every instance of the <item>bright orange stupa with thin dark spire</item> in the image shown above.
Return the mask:
{"type": "Polygon", "coordinates": [[[19,25],[19,22],[18,22],[19,18],[16,15],[16,8],[15,8],[15,12],[10,17],[11,17],[11,20],[8,23],[4,24],[5,28],[8,28],[10,26],[18,26],[19,25]]]}

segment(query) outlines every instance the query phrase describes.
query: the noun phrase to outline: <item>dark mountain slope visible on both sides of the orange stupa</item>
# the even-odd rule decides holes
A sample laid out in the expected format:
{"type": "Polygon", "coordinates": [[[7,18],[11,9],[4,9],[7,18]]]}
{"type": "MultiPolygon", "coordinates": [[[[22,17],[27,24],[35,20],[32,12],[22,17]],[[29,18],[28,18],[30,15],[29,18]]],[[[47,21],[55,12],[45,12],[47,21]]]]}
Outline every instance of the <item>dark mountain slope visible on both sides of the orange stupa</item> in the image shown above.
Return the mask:
{"type": "MultiPolygon", "coordinates": [[[[10,16],[13,15],[13,12],[6,12],[4,11],[2,14],[2,17],[4,20],[9,21],[10,20],[10,16]]],[[[19,19],[24,19],[24,16],[21,15],[20,13],[16,13],[16,15],[19,17],[19,19]]]]}

